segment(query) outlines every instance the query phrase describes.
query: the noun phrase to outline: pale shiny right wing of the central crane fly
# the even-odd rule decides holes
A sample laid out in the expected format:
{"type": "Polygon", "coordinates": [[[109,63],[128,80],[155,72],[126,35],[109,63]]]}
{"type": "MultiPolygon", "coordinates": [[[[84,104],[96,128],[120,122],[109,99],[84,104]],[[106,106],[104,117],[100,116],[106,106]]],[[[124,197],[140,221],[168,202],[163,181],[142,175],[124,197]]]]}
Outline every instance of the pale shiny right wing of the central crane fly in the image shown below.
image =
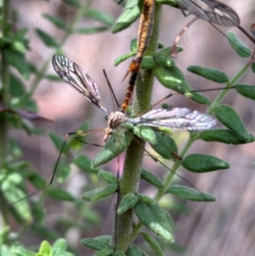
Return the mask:
{"type": "Polygon", "coordinates": [[[173,110],[156,109],[141,117],[130,118],[127,122],[144,124],[151,127],[166,127],[178,130],[206,130],[216,124],[216,120],[199,111],[190,111],[186,108],[173,110]]]}

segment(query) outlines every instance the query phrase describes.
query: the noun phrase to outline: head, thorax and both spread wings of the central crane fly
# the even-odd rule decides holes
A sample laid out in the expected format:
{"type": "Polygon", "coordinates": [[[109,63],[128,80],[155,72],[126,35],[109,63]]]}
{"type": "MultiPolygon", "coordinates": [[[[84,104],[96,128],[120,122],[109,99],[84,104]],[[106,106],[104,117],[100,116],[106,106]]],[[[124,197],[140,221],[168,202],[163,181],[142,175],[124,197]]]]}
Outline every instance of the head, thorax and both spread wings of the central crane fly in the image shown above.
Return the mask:
{"type": "MultiPolygon", "coordinates": [[[[130,118],[126,116],[126,109],[108,113],[102,105],[97,85],[88,74],[82,70],[82,67],[61,55],[54,55],[53,67],[71,88],[76,89],[87,100],[98,106],[101,111],[108,114],[108,127],[105,128],[105,142],[114,130],[119,128],[125,122],[133,124],[143,123],[150,127],[165,127],[179,130],[203,130],[211,128],[216,121],[198,111],[190,111],[186,108],[174,108],[173,110],[157,109],[152,110],[141,117],[130,118]]],[[[127,90],[127,94],[129,94],[127,90]]],[[[125,97],[128,100],[128,96],[125,97]]],[[[125,101],[124,100],[124,101],[125,101]]]]}

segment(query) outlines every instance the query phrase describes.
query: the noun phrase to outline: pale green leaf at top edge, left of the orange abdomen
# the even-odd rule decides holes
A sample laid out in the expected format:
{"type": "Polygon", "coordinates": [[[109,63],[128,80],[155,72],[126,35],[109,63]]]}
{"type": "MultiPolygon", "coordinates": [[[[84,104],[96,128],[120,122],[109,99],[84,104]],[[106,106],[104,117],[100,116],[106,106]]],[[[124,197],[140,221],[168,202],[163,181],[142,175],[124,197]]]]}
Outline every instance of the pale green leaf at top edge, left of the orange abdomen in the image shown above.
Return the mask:
{"type": "Polygon", "coordinates": [[[128,26],[138,19],[141,13],[141,7],[139,7],[139,0],[129,0],[126,3],[121,16],[116,20],[116,23],[112,26],[111,32],[116,33],[124,30],[128,26]]]}

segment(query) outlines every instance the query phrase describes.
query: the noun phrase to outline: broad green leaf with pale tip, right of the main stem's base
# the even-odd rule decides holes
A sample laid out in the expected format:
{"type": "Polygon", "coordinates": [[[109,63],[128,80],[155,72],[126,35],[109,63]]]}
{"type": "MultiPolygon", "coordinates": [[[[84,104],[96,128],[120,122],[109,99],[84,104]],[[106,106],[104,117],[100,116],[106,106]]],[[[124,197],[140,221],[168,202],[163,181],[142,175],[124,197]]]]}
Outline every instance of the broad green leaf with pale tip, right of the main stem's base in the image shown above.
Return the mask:
{"type": "Polygon", "coordinates": [[[150,205],[139,201],[134,207],[134,212],[139,221],[156,236],[161,237],[165,242],[174,241],[173,220],[157,203],[150,205]]]}

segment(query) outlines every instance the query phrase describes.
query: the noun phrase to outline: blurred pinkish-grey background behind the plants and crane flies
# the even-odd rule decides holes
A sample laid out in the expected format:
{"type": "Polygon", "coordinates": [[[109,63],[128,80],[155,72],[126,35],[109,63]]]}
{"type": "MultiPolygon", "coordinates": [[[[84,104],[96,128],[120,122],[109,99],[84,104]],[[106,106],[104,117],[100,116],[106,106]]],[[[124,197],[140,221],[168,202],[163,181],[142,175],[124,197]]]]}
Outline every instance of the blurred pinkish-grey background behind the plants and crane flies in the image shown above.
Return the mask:
{"type": "MultiPolygon", "coordinates": [[[[84,0],[84,2],[86,2],[84,0]]],[[[252,0],[232,0],[221,1],[228,4],[241,19],[241,26],[249,30],[255,20],[255,5],[252,0]]],[[[59,31],[47,20],[42,18],[42,14],[50,14],[68,22],[75,15],[75,9],[60,0],[38,1],[38,0],[13,0],[12,4],[20,13],[20,20],[17,23],[18,29],[29,27],[27,37],[31,40],[31,51],[27,54],[27,59],[37,63],[37,67],[42,66],[45,60],[54,54],[52,48],[46,48],[37,37],[34,29],[39,26],[42,30],[54,36],[58,41],[62,31],[59,31]]],[[[122,6],[111,0],[94,0],[90,6],[92,9],[104,11],[116,19],[122,13],[122,6]]],[[[171,46],[179,31],[193,17],[184,17],[178,9],[168,6],[163,7],[160,41],[166,47],[171,46]]],[[[80,27],[97,25],[95,21],[88,18],[82,20],[80,27]]],[[[129,52],[130,40],[137,36],[139,21],[136,21],[127,30],[117,34],[111,31],[104,31],[96,34],[76,34],[68,38],[64,45],[65,56],[75,61],[88,72],[99,87],[101,99],[105,108],[113,110],[113,103],[105,77],[102,70],[105,69],[111,81],[111,85],[119,102],[122,102],[126,88],[127,79],[122,82],[122,78],[127,71],[131,60],[123,62],[115,67],[114,60],[122,54],[129,52]]],[[[229,28],[219,27],[226,34],[229,28]]],[[[231,28],[238,37],[252,48],[252,43],[241,31],[231,28]]],[[[233,77],[237,71],[246,64],[246,59],[241,59],[235,51],[229,47],[226,37],[220,34],[215,28],[205,21],[197,20],[188,31],[184,33],[178,43],[184,51],[175,58],[176,65],[183,71],[190,86],[195,89],[217,88],[218,84],[208,82],[206,79],[189,73],[186,69],[189,65],[202,65],[224,71],[229,77],[233,77]]],[[[48,74],[54,74],[50,66],[48,74]]],[[[254,85],[254,73],[249,71],[241,83],[254,85]]],[[[27,86],[31,86],[30,81],[27,86]]],[[[155,81],[155,89],[152,102],[160,100],[164,95],[169,94],[167,88],[155,81]]],[[[208,93],[211,100],[217,92],[208,93]]],[[[42,128],[48,131],[53,130],[56,134],[63,136],[75,131],[84,120],[88,120],[89,128],[105,128],[105,114],[95,105],[88,102],[80,94],[77,94],[65,82],[40,82],[34,99],[39,106],[39,114],[54,120],[47,124],[42,124],[42,128]]],[[[188,107],[192,110],[207,111],[206,106],[197,105],[182,95],[173,96],[168,99],[167,104],[180,107],[188,107]]],[[[243,118],[249,132],[254,134],[254,103],[246,100],[235,92],[228,94],[224,103],[232,105],[243,118]]],[[[218,128],[220,128],[218,124],[218,128]]],[[[174,137],[178,139],[178,145],[182,147],[184,140],[188,138],[187,133],[177,133],[174,137]]],[[[22,149],[26,152],[24,158],[33,162],[34,166],[43,174],[45,179],[50,179],[54,162],[58,157],[53,143],[47,136],[30,137],[22,132],[13,131],[12,136],[19,141],[22,149]]],[[[92,155],[94,151],[92,150],[92,155]]],[[[211,193],[217,197],[216,202],[183,202],[170,196],[164,196],[161,200],[169,213],[172,214],[175,226],[175,243],[171,246],[164,244],[166,255],[253,255],[255,250],[255,177],[254,177],[254,151],[255,145],[224,145],[220,143],[206,143],[197,141],[192,146],[191,152],[201,152],[218,156],[229,162],[230,168],[208,174],[191,174],[188,171],[181,171],[180,175],[188,179],[191,184],[200,191],[211,193]],[[186,250],[184,249],[186,247],[186,250]],[[174,249],[174,251],[173,251],[174,249]]],[[[168,163],[167,163],[168,164],[168,163]]],[[[169,163],[171,166],[171,162],[169,163]]],[[[105,168],[116,173],[116,162],[112,161],[105,168]]],[[[153,171],[163,177],[167,170],[156,162],[152,162],[150,157],[144,158],[144,168],[153,171]]],[[[187,185],[184,180],[177,178],[176,181],[187,185]]],[[[73,170],[69,180],[69,190],[75,195],[82,194],[82,186],[88,182],[88,177],[81,174],[76,169],[73,170]]],[[[84,189],[84,188],[83,188],[84,189]]],[[[140,191],[148,196],[153,196],[155,190],[144,183],[140,186],[140,191]]],[[[81,238],[94,237],[111,233],[111,224],[114,212],[115,198],[107,198],[104,202],[94,204],[94,212],[98,214],[96,228],[88,225],[88,230],[69,230],[66,235],[67,240],[73,247],[79,247],[83,255],[92,255],[94,252],[79,244],[81,238]]],[[[50,203],[50,202],[48,202],[50,203]]],[[[56,202],[54,202],[56,203],[56,202]]],[[[65,212],[65,205],[48,209],[48,225],[54,226],[54,220],[59,218],[60,212],[65,212]]],[[[57,202],[58,203],[58,202],[57,202]]],[[[88,202],[84,202],[88,204],[88,202]]],[[[67,210],[66,210],[67,212],[67,210]]],[[[27,246],[38,245],[41,241],[39,237],[32,236],[30,232],[23,236],[23,242],[27,246]]],[[[136,242],[140,242],[137,240],[136,242]]],[[[144,247],[146,247],[144,245],[144,247]]],[[[152,255],[148,252],[148,255],[152,255]]]]}

